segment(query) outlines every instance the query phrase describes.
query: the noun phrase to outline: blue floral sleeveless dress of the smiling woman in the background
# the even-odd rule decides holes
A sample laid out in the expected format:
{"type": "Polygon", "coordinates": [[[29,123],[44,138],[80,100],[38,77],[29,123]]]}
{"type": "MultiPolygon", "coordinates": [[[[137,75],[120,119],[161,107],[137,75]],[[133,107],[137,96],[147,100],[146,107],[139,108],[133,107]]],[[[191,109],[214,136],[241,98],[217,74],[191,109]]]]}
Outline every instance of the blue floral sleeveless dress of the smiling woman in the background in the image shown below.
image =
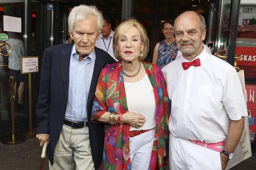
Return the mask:
{"type": "Polygon", "coordinates": [[[171,61],[175,60],[178,48],[176,41],[167,45],[165,40],[159,42],[157,65],[162,69],[171,61]]]}

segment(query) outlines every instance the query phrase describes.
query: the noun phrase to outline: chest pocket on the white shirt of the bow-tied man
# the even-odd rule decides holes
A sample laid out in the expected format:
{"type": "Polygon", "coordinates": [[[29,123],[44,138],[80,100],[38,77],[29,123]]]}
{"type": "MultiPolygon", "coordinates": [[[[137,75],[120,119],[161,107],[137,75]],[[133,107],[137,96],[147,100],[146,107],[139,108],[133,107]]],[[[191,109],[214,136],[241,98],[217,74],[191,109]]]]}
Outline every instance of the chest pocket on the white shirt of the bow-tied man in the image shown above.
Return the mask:
{"type": "Polygon", "coordinates": [[[206,112],[218,110],[223,89],[214,86],[199,85],[197,93],[197,109],[206,112]]]}

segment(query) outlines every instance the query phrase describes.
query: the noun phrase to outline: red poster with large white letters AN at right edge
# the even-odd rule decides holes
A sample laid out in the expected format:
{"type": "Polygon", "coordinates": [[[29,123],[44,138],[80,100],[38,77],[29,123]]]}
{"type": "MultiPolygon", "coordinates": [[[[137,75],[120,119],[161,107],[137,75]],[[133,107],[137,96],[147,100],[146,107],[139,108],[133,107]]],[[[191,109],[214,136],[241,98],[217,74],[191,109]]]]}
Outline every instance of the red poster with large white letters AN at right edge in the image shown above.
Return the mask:
{"type": "Polygon", "coordinates": [[[246,101],[247,101],[247,112],[248,112],[248,123],[249,129],[251,133],[251,141],[255,142],[255,133],[256,133],[256,125],[255,125],[255,117],[256,117],[256,103],[255,103],[255,93],[256,93],[256,85],[246,84],[246,101]]]}

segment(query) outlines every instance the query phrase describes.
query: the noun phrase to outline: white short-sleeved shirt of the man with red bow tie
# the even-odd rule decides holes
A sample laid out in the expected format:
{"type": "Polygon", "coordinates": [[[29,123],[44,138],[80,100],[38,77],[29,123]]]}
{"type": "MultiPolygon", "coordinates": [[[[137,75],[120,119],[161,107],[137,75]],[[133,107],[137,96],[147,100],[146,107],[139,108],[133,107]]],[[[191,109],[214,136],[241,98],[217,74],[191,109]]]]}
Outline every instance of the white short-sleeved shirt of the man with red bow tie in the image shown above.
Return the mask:
{"type": "Polygon", "coordinates": [[[169,130],[178,138],[217,143],[226,139],[229,118],[240,120],[247,108],[236,69],[205,48],[198,58],[198,67],[184,70],[188,60],[181,57],[162,69],[172,100],[169,130]]]}

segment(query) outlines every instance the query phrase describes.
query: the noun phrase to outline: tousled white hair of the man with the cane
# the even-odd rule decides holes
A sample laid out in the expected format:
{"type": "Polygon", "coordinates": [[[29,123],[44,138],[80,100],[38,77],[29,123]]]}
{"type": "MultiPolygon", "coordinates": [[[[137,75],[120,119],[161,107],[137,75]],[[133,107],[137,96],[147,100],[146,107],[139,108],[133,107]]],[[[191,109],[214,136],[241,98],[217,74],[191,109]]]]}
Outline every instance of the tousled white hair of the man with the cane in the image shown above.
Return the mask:
{"type": "Polygon", "coordinates": [[[79,5],[74,7],[68,16],[68,28],[70,32],[73,32],[73,28],[76,22],[87,19],[93,16],[96,20],[97,32],[101,32],[103,26],[102,12],[99,11],[96,6],[79,5]]]}

